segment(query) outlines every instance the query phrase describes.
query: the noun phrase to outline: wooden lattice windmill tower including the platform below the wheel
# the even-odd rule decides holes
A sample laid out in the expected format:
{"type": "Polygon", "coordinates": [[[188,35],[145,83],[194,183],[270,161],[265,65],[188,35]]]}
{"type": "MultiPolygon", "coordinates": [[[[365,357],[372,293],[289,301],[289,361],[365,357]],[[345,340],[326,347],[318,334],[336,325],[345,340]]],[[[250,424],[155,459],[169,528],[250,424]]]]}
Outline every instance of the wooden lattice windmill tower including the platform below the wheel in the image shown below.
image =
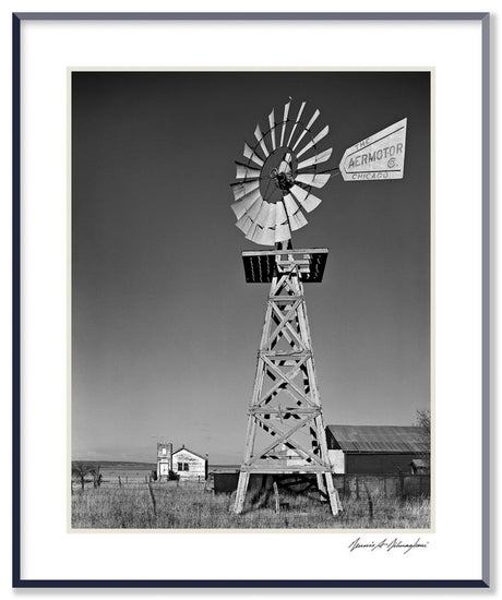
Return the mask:
{"type": "Polygon", "coordinates": [[[315,473],[332,513],[340,504],[322,416],[303,283],[320,283],[327,249],[243,252],[248,283],[270,283],[235,512],[251,473],[315,473]],[[263,433],[263,435],[259,435],[263,433]]]}

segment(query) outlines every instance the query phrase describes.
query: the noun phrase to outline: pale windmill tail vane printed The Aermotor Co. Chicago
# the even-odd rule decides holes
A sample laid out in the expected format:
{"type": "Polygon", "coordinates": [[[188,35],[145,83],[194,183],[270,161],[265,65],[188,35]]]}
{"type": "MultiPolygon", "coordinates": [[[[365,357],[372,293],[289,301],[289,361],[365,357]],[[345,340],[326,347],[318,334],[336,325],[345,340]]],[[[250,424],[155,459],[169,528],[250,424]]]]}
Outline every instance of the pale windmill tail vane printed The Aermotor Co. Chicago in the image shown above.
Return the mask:
{"type": "Polygon", "coordinates": [[[403,119],[347,148],[339,164],[344,180],[403,179],[406,124],[403,119]]]}

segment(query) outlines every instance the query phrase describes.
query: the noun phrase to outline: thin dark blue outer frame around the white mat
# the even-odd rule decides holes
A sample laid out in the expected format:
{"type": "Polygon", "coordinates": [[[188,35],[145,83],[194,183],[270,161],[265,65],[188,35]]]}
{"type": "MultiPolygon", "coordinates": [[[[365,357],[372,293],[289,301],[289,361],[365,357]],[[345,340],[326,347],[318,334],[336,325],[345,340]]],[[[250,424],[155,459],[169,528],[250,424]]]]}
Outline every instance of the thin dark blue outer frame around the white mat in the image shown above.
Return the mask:
{"type": "Polygon", "coordinates": [[[437,13],[13,13],[12,15],[12,585],[15,588],[487,588],[490,574],[490,15],[437,13]],[[142,20],[480,21],[482,26],[482,577],[481,579],[22,579],[21,578],[21,371],[20,371],[20,107],[21,22],[142,20]]]}

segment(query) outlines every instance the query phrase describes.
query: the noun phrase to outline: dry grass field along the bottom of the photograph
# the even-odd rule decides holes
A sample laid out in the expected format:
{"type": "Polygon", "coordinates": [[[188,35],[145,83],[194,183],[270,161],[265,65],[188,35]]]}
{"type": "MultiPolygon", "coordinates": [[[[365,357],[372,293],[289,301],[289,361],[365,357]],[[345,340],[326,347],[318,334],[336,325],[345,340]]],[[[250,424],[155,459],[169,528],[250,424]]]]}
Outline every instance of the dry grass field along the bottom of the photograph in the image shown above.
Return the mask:
{"type": "Polygon", "coordinates": [[[326,503],[304,495],[280,493],[283,508],[273,499],[263,507],[249,504],[242,515],[232,513],[234,497],[214,494],[204,484],[175,481],[122,484],[104,482],[81,490],[73,485],[72,527],[76,529],[427,529],[428,499],[376,499],[370,516],[367,500],[349,499],[333,517],[326,503]],[[286,505],[286,506],[285,506],[286,505]]]}

